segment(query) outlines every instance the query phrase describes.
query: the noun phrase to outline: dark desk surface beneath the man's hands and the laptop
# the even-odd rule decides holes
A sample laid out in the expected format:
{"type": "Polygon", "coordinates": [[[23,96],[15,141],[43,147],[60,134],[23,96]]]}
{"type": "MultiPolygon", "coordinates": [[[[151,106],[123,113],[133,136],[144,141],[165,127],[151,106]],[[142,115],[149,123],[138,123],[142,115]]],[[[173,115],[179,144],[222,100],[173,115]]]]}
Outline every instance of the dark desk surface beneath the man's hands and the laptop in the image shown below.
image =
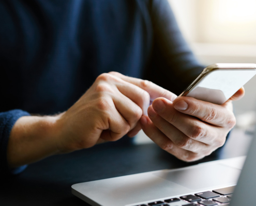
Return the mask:
{"type": "Polygon", "coordinates": [[[221,150],[196,163],[179,161],[155,144],[106,144],[53,156],[1,182],[0,205],[88,205],[71,194],[72,184],[246,155],[250,139],[234,130],[221,150]]]}

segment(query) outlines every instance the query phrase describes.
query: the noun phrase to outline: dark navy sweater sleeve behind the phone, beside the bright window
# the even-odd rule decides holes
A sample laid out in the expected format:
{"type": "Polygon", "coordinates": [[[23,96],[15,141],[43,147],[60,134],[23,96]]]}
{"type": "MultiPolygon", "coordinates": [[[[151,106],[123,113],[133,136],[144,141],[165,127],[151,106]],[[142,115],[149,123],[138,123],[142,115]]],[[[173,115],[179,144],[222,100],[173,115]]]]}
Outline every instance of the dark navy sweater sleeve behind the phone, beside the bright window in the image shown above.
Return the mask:
{"type": "Polygon", "coordinates": [[[145,78],[179,95],[204,65],[191,52],[167,0],[151,0],[153,49],[145,78]]]}

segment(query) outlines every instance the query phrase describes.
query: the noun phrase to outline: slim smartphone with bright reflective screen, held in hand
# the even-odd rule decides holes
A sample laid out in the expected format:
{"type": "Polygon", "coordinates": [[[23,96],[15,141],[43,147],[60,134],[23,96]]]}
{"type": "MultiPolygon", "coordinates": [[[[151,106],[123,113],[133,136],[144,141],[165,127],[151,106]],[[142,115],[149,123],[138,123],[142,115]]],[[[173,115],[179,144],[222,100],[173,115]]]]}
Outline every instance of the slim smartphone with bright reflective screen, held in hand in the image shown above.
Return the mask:
{"type": "Polygon", "coordinates": [[[179,96],[222,105],[256,74],[256,64],[217,63],[201,74],[179,96]]]}

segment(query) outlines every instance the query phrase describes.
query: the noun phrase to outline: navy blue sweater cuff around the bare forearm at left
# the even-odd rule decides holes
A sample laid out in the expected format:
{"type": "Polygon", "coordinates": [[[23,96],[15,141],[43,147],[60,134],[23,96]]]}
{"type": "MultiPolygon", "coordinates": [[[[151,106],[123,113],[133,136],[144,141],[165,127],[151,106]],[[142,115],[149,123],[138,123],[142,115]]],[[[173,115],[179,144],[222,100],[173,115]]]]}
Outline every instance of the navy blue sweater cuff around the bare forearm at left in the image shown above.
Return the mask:
{"type": "Polygon", "coordinates": [[[0,112],[0,175],[19,174],[26,168],[26,165],[9,169],[7,164],[7,145],[11,129],[16,121],[22,116],[28,116],[29,113],[22,110],[10,110],[0,112]]]}

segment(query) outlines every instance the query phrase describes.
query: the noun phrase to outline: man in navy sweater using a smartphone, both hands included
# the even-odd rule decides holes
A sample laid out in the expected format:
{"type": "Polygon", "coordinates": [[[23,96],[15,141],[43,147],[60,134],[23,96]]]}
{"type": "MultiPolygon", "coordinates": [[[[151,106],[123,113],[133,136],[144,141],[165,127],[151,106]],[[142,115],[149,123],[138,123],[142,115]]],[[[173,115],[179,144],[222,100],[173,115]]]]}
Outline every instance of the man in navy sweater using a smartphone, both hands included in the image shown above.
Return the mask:
{"type": "Polygon", "coordinates": [[[221,106],[176,98],[203,67],[165,0],[6,0],[0,21],[2,173],[141,128],[195,161],[235,125],[243,89],[221,106]]]}

